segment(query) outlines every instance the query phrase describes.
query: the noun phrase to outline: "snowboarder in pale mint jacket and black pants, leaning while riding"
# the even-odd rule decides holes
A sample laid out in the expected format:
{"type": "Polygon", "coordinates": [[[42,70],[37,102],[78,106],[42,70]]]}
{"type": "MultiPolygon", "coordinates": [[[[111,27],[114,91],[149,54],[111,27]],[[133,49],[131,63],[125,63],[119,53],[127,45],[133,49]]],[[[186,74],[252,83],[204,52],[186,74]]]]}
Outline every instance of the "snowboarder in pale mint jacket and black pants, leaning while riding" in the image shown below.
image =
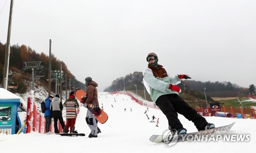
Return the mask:
{"type": "Polygon", "coordinates": [[[170,76],[165,68],[158,64],[155,53],[149,53],[146,61],[148,65],[143,71],[143,83],[151,99],[168,119],[170,130],[177,134],[185,134],[187,131],[178,119],[178,113],[194,122],[198,130],[215,128],[214,124],[208,123],[179,96],[181,90],[176,84],[179,84],[181,79],[190,79],[188,75],[170,76]]]}

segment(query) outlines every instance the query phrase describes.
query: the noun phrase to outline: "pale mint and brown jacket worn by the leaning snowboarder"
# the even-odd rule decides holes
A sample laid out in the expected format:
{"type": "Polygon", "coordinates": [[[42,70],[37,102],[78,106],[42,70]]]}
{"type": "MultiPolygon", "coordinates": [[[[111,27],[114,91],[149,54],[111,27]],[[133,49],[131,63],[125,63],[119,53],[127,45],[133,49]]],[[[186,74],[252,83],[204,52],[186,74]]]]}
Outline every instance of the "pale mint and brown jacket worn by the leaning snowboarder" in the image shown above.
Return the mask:
{"type": "Polygon", "coordinates": [[[143,71],[143,83],[151,99],[156,102],[157,98],[167,94],[177,94],[178,92],[168,89],[169,84],[179,84],[181,79],[178,75],[169,76],[162,65],[157,69],[154,65],[149,65],[143,71]]]}

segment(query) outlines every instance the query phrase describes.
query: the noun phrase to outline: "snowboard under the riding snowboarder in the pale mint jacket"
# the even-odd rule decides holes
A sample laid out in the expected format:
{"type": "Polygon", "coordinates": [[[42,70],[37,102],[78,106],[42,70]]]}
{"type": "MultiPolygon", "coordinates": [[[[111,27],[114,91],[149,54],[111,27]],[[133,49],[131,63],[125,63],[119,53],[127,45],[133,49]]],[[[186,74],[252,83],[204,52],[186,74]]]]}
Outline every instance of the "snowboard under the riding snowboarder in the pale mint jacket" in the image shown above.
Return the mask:
{"type": "Polygon", "coordinates": [[[232,124],[229,125],[224,125],[212,129],[206,129],[206,130],[200,130],[199,132],[194,132],[194,133],[187,133],[187,134],[181,134],[181,135],[172,135],[168,133],[167,135],[152,135],[150,137],[150,141],[154,143],[176,143],[176,142],[185,142],[185,141],[197,141],[198,139],[206,139],[210,135],[221,135],[226,132],[228,132],[231,127],[234,125],[233,122],[232,124]]]}

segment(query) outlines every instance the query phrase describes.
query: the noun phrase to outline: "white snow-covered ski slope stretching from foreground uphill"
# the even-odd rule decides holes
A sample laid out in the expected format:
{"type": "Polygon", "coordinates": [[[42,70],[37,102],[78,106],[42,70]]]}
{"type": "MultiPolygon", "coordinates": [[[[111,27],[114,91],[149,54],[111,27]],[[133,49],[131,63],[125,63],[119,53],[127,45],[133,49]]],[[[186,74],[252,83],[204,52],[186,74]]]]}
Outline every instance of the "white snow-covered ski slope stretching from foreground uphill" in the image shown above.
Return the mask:
{"type": "MultiPolygon", "coordinates": [[[[167,129],[167,119],[160,110],[149,108],[147,119],[146,107],[132,101],[129,96],[99,93],[100,107],[108,113],[109,120],[98,124],[101,134],[98,138],[88,138],[90,129],[86,124],[86,112],[80,108],[76,129],[85,137],[61,137],[55,134],[38,133],[4,135],[0,134],[1,152],[243,152],[252,151],[256,144],[256,121],[252,119],[235,119],[222,117],[206,117],[210,123],[222,126],[236,122],[232,133],[250,134],[249,142],[180,142],[171,147],[163,143],[155,144],[148,139],[153,134],[161,135],[167,129]],[[116,101],[116,102],[115,102],[116,101]],[[113,105],[113,107],[112,107],[113,105]],[[124,112],[126,108],[126,112],[124,112]],[[132,108],[132,112],[131,112],[132,108]],[[159,127],[151,123],[151,117],[159,118],[159,127]]],[[[181,122],[189,132],[195,132],[194,124],[179,115],[181,122]]]]}

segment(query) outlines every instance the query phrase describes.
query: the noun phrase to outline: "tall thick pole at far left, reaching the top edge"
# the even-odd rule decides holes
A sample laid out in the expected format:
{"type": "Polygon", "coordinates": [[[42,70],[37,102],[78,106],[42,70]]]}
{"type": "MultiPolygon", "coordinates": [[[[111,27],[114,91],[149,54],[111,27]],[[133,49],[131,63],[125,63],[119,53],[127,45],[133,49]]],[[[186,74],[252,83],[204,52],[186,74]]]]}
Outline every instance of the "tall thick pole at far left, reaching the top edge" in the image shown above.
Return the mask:
{"type": "Polygon", "coordinates": [[[10,5],[8,33],[7,33],[6,50],[5,50],[5,67],[4,67],[4,77],[3,77],[3,88],[6,90],[7,90],[7,86],[8,86],[10,37],[11,37],[11,26],[12,26],[12,8],[13,8],[13,0],[11,0],[11,5],[10,5]]]}

